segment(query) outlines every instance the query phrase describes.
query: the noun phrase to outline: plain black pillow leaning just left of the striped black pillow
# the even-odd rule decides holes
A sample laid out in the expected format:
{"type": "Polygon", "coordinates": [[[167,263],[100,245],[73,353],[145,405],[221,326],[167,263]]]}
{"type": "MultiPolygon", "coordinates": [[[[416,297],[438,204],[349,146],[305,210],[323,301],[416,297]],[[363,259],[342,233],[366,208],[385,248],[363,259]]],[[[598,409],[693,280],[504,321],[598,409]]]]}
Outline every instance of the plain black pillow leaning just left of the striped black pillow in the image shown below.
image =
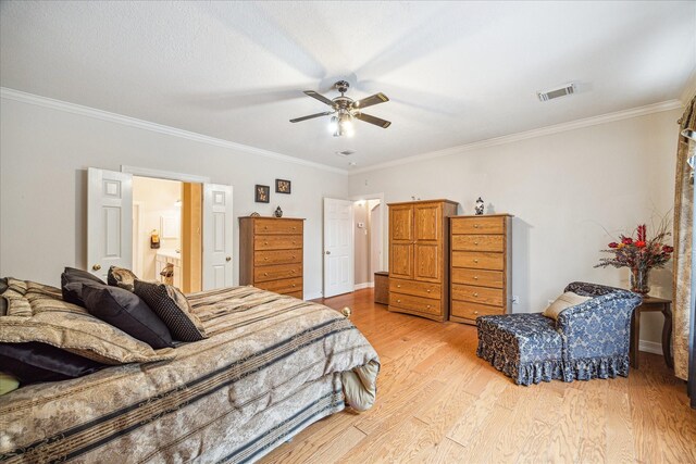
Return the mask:
{"type": "Polygon", "coordinates": [[[174,347],[170,330],[137,294],[95,283],[83,283],[82,287],[85,308],[92,316],[154,349],[174,347]]]}

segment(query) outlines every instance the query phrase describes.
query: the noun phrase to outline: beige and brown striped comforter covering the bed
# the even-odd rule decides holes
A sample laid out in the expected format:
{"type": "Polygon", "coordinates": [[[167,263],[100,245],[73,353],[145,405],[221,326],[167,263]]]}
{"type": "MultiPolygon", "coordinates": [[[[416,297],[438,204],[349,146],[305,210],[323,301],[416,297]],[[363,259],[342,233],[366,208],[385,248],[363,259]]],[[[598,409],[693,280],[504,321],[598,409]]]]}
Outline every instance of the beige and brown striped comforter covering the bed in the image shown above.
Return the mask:
{"type": "Polygon", "coordinates": [[[377,355],[338,312],[253,287],[188,298],[210,338],[175,360],[0,397],[0,461],[254,461],[374,400],[377,355]]]}

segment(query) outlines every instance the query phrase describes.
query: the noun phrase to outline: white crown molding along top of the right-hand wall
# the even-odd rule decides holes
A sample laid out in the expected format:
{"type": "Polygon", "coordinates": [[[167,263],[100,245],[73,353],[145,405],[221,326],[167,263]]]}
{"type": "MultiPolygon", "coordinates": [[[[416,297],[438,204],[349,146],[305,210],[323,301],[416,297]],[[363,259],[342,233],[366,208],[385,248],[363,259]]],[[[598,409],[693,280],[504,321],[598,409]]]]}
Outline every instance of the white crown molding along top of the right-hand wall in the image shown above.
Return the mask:
{"type": "Polygon", "coordinates": [[[383,170],[385,167],[400,166],[403,164],[417,163],[419,161],[432,160],[434,158],[450,156],[452,154],[461,154],[467,151],[477,150],[482,148],[512,143],[520,140],[548,136],[551,134],[564,133],[568,130],[596,126],[599,124],[612,123],[614,121],[627,120],[631,117],[645,116],[647,114],[660,113],[662,111],[670,111],[670,110],[675,110],[680,108],[684,108],[684,104],[680,100],[668,100],[660,103],[652,103],[645,106],[633,108],[630,110],[617,111],[614,113],[600,114],[598,116],[585,117],[583,120],[571,121],[562,124],[555,124],[552,126],[540,127],[538,129],[526,130],[523,133],[511,134],[508,136],[496,137],[487,140],[482,140],[482,141],[475,141],[472,143],[465,143],[458,147],[446,148],[444,150],[431,151],[427,153],[417,154],[413,156],[401,158],[399,160],[388,161],[386,163],[380,163],[372,166],[366,166],[366,167],[361,167],[355,171],[350,171],[348,175],[352,176],[356,174],[383,170]]]}

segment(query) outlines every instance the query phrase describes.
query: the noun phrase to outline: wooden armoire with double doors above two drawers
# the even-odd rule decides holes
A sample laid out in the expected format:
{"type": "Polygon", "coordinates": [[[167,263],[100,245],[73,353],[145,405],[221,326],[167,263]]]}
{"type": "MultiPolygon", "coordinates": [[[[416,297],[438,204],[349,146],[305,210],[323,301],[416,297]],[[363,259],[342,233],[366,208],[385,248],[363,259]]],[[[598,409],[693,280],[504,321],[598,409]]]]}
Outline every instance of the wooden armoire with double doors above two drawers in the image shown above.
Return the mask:
{"type": "Polygon", "coordinates": [[[446,321],[449,216],[457,202],[389,204],[389,311],[446,321]]]}

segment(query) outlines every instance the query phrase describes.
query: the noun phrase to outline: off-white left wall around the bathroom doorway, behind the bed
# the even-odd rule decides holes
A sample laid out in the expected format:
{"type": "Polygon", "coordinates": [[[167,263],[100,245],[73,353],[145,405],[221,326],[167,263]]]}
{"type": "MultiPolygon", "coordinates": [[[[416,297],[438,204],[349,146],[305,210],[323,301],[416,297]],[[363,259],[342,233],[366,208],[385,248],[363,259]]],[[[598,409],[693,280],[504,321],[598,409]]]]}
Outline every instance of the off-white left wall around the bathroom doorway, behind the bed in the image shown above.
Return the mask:
{"type": "MultiPolygon", "coordinates": [[[[270,134],[270,137],[273,135],[270,134]]],[[[86,168],[121,165],[210,177],[234,186],[234,213],[304,217],[304,297],[322,289],[322,198],[347,198],[343,174],[3,98],[0,111],[0,275],[57,285],[86,267],[86,168]],[[276,178],[293,181],[276,195],[276,178]],[[271,186],[254,203],[253,186],[271,186]]],[[[238,250],[235,221],[235,250],[238,250]]],[[[234,256],[235,281],[239,276],[234,256]]]]}

